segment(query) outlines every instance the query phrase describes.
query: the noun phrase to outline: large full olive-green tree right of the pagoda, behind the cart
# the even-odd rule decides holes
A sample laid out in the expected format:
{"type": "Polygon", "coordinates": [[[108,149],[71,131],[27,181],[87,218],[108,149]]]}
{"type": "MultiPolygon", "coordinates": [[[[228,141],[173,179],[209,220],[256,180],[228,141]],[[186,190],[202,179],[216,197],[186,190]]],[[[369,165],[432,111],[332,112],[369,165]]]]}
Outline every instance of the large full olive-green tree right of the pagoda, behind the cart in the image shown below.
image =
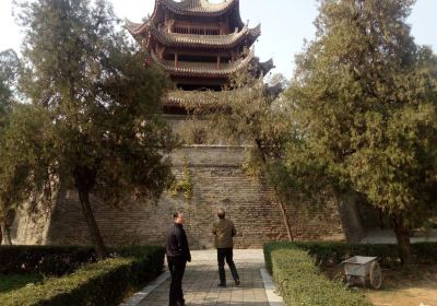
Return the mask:
{"type": "Polygon", "coordinates": [[[321,0],[287,93],[327,175],[391,217],[404,263],[437,199],[437,66],[405,22],[414,2],[321,0]]]}

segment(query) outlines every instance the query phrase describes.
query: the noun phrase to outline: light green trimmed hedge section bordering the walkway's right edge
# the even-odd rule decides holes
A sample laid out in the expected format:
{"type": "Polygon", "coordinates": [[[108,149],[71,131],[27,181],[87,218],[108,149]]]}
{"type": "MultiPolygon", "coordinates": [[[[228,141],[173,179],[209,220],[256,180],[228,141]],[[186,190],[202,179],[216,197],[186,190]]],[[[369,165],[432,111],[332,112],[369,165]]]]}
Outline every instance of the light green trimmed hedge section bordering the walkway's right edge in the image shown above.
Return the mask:
{"type": "Polygon", "coordinates": [[[363,296],[347,291],[338,281],[328,280],[315,259],[303,249],[274,249],[270,268],[286,305],[293,306],[367,306],[363,296]]]}

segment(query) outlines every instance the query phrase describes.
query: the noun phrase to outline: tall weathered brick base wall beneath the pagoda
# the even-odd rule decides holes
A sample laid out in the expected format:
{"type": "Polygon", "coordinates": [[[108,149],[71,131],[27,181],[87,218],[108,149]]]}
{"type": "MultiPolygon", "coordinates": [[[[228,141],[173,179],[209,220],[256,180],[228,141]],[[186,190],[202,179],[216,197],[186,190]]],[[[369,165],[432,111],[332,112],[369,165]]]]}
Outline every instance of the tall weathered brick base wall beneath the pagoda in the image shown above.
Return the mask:
{"type": "MultiPolygon", "coordinates": [[[[224,208],[236,224],[237,248],[259,248],[265,242],[286,240],[285,226],[270,191],[240,168],[244,154],[243,148],[190,146],[178,150],[173,155],[174,172],[180,178],[184,158],[188,157],[193,183],[190,201],[181,195],[173,198],[165,193],[157,204],[130,202],[121,209],[114,209],[92,197],[105,242],[108,245],[163,244],[166,228],[173,222],[173,212],[178,208],[187,212],[186,229],[193,249],[212,247],[211,224],[218,208],[224,208]]],[[[290,208],[287,213],[297,239],[344,238],[334,204],[322,213],[310,212],[304,205],[290,208]]],[[[26,233],[29,219],[20,222],[16,243],[90,244],[75,192],[60,191],[47,221],[47,228],[39,234],[26,233]]]]}

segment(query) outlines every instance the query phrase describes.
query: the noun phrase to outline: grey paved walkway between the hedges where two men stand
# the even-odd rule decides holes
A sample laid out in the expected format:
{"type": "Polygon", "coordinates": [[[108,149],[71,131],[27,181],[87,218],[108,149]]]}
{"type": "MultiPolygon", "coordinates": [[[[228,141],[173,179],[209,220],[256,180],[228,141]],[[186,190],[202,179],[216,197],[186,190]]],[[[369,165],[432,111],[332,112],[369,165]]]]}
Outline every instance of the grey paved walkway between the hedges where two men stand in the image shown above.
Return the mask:
{"type": "MultiPolygon", "coordinates": [[[[227,287],[217,287],[218,273],[215,250],[193,251],[184,278],[186,305],[247,305],[269,306],[260,269],[264,268],[262,250],[235,250],[235,263],[241,280],[236,287],[226,267],[227,287]]],[[[169,279],[154,290],[139,305],[167,306],[169,279]]],[[[274,305],[283,305],[274,303],[274,305]]]]}

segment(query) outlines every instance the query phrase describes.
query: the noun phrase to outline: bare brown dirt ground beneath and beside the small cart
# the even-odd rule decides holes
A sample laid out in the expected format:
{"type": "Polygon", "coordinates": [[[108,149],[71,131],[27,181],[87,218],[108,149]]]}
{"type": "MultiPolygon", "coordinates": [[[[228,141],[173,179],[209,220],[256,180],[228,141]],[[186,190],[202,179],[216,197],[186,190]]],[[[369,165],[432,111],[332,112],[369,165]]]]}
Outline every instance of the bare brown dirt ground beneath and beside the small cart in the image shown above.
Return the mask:
{"type": "Polygon", "coordinates": [[[382,269],[382,278],[379,291],[357,289],[375,306],[437,306],[437,264],[382,269]]]}

